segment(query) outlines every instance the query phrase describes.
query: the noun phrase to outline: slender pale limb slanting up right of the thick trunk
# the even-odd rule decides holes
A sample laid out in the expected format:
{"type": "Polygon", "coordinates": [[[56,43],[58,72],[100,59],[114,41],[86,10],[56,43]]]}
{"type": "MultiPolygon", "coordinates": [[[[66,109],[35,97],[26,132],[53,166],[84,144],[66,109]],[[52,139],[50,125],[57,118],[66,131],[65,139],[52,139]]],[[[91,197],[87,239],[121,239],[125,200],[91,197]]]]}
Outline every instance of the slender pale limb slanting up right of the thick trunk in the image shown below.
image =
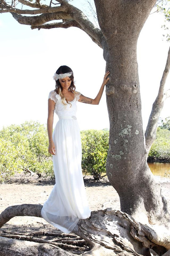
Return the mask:
{"type": "Polygon", "coordinates": [[[152,111],[149,116],[149,121],[148,121],[148,125],[145,132],[146,150],[148,153],[152,146],[152,143],[156,138],[157,122],[160,116],[160,112],[163,108],[164,101],[170,96],[170,89],[167,90],[166,93],[164,93],[164,86],[165,86],[166,78],[169,73],[169,69],[170,69],[170,47],[168,51],[166,66],[163,71],[162,79],[160,81],[159,92],[158,92],[157,98],[155,99],[152,105],[152,111]]]}

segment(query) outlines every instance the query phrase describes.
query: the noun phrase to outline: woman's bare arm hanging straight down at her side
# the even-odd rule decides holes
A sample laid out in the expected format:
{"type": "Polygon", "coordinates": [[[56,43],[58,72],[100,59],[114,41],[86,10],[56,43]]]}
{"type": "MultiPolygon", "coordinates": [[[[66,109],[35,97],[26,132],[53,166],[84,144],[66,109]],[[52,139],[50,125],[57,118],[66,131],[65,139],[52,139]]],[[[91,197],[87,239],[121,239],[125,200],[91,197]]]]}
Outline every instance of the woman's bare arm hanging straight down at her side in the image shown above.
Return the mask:
{"type": "Polygon", "coordinates": [[[54,110],[55,110],[55,102],[51,99],[48,99],[48,118],[47,118],[47,132],[48,132],[48,139],[49,139],[48,152],[52,155],[55,155],[55,145],[52,140],[52,125],[54,120],[54,110]]]}

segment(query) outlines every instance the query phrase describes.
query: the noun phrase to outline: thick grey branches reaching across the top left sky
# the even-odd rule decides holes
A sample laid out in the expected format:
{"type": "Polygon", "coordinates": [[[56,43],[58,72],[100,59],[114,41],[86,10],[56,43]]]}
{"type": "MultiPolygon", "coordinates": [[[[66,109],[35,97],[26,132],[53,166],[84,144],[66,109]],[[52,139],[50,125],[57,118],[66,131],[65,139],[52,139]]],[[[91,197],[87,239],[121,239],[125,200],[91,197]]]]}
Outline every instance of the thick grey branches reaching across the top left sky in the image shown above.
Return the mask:
{"type": "MultiPolygon", "coordinates": [[[[30,7],[38,8],[38,10],[20,10],[16,8],[11,8],[11,6],[7,5],[4,1],[4,4],[1,5],[0,13],[7,13],[10,12],[14,19],[16,19],[20,24],[24,25],[31,25],[32,29],[35,28],[69,28],[72,26],[75,26],[77,28],[80,28],[86,34],[89,35],[89,37],[95,42],[98,46],[101,46],[102,40],[103,40],[103,34],[101,30],[95,25],[93,25],[92,22],[89,21],[87,16],[78,8],[68,3],[66,0],[59,0],[59,4],[61,4],[58,7],[49,7],[48,5],[41,5],[40,2],[37,0],[35,3],[30,3],[26,0],[18,0],[20,3],[25,4],[30,7]],[[3,7],[2,7],[3,6],[3,7]],[[39,16],[23,16],[21,14],[40,14],[39,16]],[[52,20],[60,20],[62,19],[63,22],[60,22],[56,25],[47,25],[44,24],[46,22],[52,21],[52,20]],[[67,20],[70,23],[64,24],[65,20],[67,20]],[[73,22],[73,20],[75,22],[73,22]],[[43,25],[44,24],[44,25],[43,25]],[[43,26],[42,26],[43,25],[43,26]]],[[[1,0],[3,3],[3,0],[1,0]]],[[[51,3],[51,2],[50,2],[51,3]]]]}

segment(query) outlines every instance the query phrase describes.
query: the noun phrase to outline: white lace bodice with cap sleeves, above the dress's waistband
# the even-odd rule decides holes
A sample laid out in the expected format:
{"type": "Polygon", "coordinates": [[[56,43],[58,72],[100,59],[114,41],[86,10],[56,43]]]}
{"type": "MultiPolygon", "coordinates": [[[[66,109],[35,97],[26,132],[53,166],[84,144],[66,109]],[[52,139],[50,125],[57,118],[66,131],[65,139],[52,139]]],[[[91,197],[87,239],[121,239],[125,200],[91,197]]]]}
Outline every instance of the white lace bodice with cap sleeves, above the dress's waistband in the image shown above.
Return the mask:
{"type": "Polygon", "coordinates": [[[80,97],[80,93],[75,92],[75,98],[70,102],[72,105],[70,105],[66,101],[65,103],[67,105],[64,105],[61,101],[60,95],[57,94],[55,91],[50,91],[48,99],[51,99],[55,102],[55,113],[58,115],[59,118],[62,116],[76,117],[76,111],[77,111],[76,102],[78,101],[79,97],[80,97]]]}

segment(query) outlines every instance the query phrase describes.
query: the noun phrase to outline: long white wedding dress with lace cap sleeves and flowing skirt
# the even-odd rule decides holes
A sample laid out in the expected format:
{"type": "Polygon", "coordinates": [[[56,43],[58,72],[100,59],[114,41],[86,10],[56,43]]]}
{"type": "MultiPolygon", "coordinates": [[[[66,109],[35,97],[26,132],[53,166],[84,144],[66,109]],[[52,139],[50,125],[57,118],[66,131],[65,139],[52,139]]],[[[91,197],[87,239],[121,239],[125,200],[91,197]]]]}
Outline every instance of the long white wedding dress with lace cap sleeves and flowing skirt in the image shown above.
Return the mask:
{"type": "Polygon", "coordinates": [[[91,215],[81,170],[81,137],[76,119],[76,92],[72,102],[64,105],[61,97],[51,91],[49,98],[55,102],[59,120],[52,133],[55,155],[52,155],[55,185],[45,201],[41,216],[65,233],[72,232],[79,219],[91,215]],[[71,106],[71,107],[70,107],[71,106]]]}

